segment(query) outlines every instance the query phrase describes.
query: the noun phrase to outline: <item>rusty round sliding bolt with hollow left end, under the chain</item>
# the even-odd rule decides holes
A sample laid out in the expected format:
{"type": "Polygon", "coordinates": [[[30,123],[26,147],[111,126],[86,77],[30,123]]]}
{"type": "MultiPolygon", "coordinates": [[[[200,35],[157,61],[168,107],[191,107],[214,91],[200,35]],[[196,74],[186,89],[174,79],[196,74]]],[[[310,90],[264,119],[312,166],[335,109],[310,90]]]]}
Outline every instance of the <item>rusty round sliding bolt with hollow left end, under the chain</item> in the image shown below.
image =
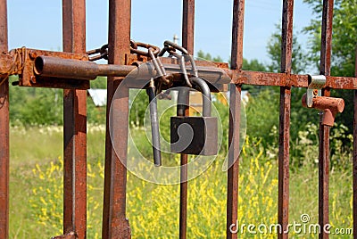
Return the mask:
{"type": "MultiPolygon", "coordinates": [[[[168,58],[163,59],[165,62],[168,58]]],[[[203,62],[198,62],[199,64],[203,62]]],[[[166,72],[174,81],[182,82],[181,70],[177,64],[163,64],[166,72]]],[[[135,65],[114,65],[114,64],[96,64],[95,62],[79,61],[73,59],[62,59],[53,56],[37,56],[34,66],[32,66],[36,76],[47,78],[77,78],[83,80],[93,80],[98,76],[126,77],[129,73],[131,82],[129,87],[142,87],[147,82],[147,78],[158,78],[158,72],[155,70],[152,62],[141,64],[139,70],[135,65]],[[73,74],[73,72],[75,74],[73,74]]],[[[212,85],[228,84],[230,78],[225,70],[216,66],[197,66],[196,68],[201,78],[204,78],[212,85]]],[[[192,74],[192,67],[187,67],[187,73],[192,74]]],[[[52,81],[50,81],[52,82],[52,81]]]]}

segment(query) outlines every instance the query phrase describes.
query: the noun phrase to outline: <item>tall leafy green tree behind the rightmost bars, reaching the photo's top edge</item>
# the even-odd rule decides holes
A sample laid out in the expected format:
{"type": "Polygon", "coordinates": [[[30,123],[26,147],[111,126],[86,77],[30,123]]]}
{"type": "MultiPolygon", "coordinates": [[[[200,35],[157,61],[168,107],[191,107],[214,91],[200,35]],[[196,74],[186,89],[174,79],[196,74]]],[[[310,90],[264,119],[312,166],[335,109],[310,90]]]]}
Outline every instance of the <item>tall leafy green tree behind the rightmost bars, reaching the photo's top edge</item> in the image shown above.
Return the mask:
{"type": "MultiPolygon", "coordinates": [[[[314,18],[310,25],[304,29],[309,37],[309,60],[320,66],[320,39],[321,39],[321,15],[322,1],[304,0],[311,6],[314,18]]],[[[355,54],[357,45],[357,0],[336,0],[334,5],[333,37],[331,75],[353,77],[355,54]]],[[[336,122],[344,124],[348,128],[348,134],[353,131],[353,91],[336,90],[331,95],[345,99],[345,111],[339,114],[336,122]]]]}

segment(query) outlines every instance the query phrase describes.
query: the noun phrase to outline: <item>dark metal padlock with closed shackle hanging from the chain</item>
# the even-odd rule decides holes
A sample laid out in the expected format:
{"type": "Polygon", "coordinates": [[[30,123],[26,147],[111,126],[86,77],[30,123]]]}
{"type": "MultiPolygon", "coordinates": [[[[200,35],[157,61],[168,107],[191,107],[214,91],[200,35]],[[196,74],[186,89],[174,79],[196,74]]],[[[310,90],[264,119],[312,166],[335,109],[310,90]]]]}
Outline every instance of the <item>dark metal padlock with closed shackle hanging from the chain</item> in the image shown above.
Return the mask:
{"type": "Polygon", "coordinates": [[[218,123],[211,116],[212,99],[210,87],[202,78],[190,78],[203,95],[203,117],[183,116],[185,99],[189,90],[179,90],[178,116],[170,118],[171,152],[216,155],[218,152],[218,123]],[[184,107],[183,107],[184,106],[184,107]]]}

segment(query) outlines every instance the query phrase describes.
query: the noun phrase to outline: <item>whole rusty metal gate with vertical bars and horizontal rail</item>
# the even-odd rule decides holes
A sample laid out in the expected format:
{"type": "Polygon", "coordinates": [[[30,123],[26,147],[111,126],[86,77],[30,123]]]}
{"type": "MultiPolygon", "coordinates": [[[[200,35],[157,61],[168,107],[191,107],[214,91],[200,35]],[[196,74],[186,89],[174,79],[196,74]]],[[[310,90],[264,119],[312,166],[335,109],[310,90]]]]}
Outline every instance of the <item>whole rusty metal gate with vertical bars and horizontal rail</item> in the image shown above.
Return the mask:
{"type": "MultiPolygon", "coordinates": [[[[237,221],[238,169],[239,161],[239,125],[241,86],[259,85],[280,87],[279,148],[278,148],[278,224],[283,231],[288,225],[289,212],[289,125],[291,87],[309,87],[309,76],[291,73],[293,42],[293,6],[294,0],[283,1],[281,73],[253,72],[242,70],[243,37],[245,20],[245,0],[234,0],[231,69],[227,64],[217,68],[228,73],[230,78],[229,161],[233,166],[228,169],[227,194],[227,238],[237,238],[229,231],[229,226],[237,221]],[[237,160],[237,161],[236,161],[237,160]]],[[[322,89],[323,96],[329,96],[331,89],[356,90],[356,78],[331,77],[331,37],[333,0],[323,1],[322,34],[320,52],[320,75],[326,77],[322,89]]],[[[86,238],[87,223],[87,105],[86,89],[89,79],[103,74],[108,76],[107,127],[105,141],[104,173],[104,211],[103,238],[129,238],[129,221],[126,218],[127,143],[129,126],[129,88],[124,96],[113,99],[120,81],[134,66],[131,62],[142,57],[130,53],[130,0],[109,0],[109,37],[108,66],[100,68],[89,62],[86,54],[86,5],[85,0],[62,0],[63,8],[63,51],[54,53],[35,49],[15,49],[8,51],[6,0],[0,1],[0,237],[8,238],[9,228],[9,81],[8,76],[19,74],[20,86],[64,88],[64,194],[63,194],[63,235],[54,238],[86,238]],[[41,58],[42,57],[42,58],[41,58]],[[44,58],[45,57],[45,58],[44,58]],[[46,58],[47,57],[47,58],[46,58]],[[57,65],[49,70],[48,75],[34,71],[36,60],[51,60],[55,57],[57,65]],[[61,61],[63,60],[63,64],[61,61]],[[72,61],[71,67],[84,75],[71,75],[64,70],[65,61],[72,61]],[[56,71],[57,70],[57,71],[56,71]],[[102,71],[101,71],[102,70],[102,71]],[[102,73],[99,73],[102,72],[102,73]],[[62,75],[59,73],[61,72],[62,75]],[[103,73],[104,72],[104,73],[103,73]],[[57,74],[57,75],[56,75],[57,74]],[[67,74],[67,75],[66,75],[67,74]],[[76,79],[78,78],[78,79],[76,79]],[[109,107],[124,112],[116,119],[116,126],[111,128],[113,139],[109,135],[109,107]],[[120,142],[120,144],[118,144],[120,142]],[[123,143],[124,142],[124,143],[123,143]],[[114,145],[113,145],[114,144],[114,145]],[[114,152],[113,147],[117,150],[114,152]],[[121,163],[118,159],[120,159],[121,163]]],[[[183,0],[182,44],[189,54],[194,53],[195,1],[183,0]]],[[[102,49],[103,50],[103,49],[102,49]]],[[[100,50],[98,53],[103,53],[100,50]]],[[[212,67],[212,70],[217,70],[212,67]]],[[[79,73],[80,74],[80,73],[79,73]]],[[[357,91],[355,91],[355,95],[357,91]]],[[[188,111],[186,111],[187,113],[188,111]]],[[[357,124],[357,103],[354,103],[354,122],[357,124]]],[[[322,121],[322,120],[320,120],[322,121]]],[[[357,238],[357,128],[353,134],[353,227],[357,238]]],[[[319,223],[328,224],[328,164],[329,164],[329,127],[320,123],[319,155],[319,223]]],[[[187,163],[187,155],[181,155],[181,164],[187,163]]],[[[181,172],[187,177],[187,171],[181,172]]],[[[187,237],[187,182],[180,185],[179,237],[187,237]]],[[[287,238],[285,232],[278,238],[287,238]]],[[[328,238],[323,232],[320,238],[328,238]]]]}

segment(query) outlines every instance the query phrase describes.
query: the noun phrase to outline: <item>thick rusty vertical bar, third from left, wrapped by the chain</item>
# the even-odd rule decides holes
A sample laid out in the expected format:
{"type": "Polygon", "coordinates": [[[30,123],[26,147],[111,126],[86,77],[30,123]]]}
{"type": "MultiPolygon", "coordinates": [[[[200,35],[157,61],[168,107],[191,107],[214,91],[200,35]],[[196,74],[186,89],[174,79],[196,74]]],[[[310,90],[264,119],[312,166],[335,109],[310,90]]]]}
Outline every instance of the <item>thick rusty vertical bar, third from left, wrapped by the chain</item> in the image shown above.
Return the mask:
{"type": "MultiPolygon", "coordinates": [[[[130,16],[130,0],[109,1],[110,64],[125,64],[130,53],[130,16]]],[[[126,218],[129,88],[120,87],[114,96],[120,81],[112,77],[107,81],[103,238],[130,238],[126,218]],[[114,123],[109,125],[110,121],[114,123]]]]}

